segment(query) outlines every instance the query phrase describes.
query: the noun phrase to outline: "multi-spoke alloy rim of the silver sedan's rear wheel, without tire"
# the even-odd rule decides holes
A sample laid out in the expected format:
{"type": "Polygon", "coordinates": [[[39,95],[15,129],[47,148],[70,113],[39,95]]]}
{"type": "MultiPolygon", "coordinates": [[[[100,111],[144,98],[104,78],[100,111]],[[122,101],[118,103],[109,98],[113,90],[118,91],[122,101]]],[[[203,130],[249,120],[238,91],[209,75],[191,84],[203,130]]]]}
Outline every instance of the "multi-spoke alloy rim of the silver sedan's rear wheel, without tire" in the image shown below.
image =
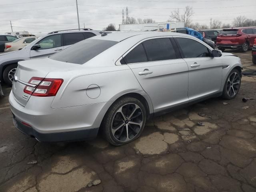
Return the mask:
{"type": "Polygon", "coordinates": [[[112,135],[119,142],[132,140],[141,130],[143,112],[137,104],[129,103],[121,106],[112,120],[112,135]]]}

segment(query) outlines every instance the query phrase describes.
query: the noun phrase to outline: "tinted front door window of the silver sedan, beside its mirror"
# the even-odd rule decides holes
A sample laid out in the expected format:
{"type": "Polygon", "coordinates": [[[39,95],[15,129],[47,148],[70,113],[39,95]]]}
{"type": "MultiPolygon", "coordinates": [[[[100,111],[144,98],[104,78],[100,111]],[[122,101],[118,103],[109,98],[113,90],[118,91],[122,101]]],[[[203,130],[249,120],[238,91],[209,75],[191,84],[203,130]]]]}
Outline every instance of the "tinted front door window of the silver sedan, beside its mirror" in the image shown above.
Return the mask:
{"type": "Polygon", "coordinates": [[[208,48],[200,42],[188,38],[176,38],[176,41],[184,58],[210,57],[208,48]]]}

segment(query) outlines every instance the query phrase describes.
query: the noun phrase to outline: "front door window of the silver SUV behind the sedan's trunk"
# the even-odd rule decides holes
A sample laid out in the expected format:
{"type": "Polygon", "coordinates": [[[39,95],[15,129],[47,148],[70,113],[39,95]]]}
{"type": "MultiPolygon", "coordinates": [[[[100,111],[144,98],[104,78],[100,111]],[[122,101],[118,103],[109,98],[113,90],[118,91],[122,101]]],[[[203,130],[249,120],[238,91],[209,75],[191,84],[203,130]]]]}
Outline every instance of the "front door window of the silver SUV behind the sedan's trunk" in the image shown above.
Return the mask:
{"type": "Polygon", "coordinates": [[[40,45],[39,49],[50,49],[61,46],[61,36],[60,34],[47,36],[40,40],[37,44],[40,45]]]}

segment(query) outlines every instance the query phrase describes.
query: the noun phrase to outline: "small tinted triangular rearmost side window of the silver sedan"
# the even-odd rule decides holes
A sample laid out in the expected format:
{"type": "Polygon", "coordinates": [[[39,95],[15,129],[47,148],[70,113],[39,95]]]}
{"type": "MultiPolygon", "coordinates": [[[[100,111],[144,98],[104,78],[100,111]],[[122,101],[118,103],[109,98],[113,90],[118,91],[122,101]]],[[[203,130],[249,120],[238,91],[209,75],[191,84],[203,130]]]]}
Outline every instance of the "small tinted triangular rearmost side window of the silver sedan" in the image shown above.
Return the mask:
{"type": "Polygon", "coordinates": [[[126,64],[129,63],[140,63],[140,62],[147,62],[147,56],[142,44],[136,46],[133,50],[131,50],[125,57],[124,61],[126,64]]]}

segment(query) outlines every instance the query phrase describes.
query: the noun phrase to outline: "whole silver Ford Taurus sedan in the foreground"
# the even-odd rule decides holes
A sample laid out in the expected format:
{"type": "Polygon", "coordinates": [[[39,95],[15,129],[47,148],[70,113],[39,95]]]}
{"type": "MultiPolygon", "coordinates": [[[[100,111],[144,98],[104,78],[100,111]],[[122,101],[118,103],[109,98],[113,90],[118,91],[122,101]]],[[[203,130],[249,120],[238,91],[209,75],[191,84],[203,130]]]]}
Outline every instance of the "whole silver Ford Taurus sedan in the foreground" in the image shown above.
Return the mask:
{"type": "Polygon", "coordinates": [[[241,83],[240,58],[193,36],[120,32],[18,63],[9,101],[15,126],[42,142],[94,138],[119,146],[177,106],[223,96],[241,83]]]}

